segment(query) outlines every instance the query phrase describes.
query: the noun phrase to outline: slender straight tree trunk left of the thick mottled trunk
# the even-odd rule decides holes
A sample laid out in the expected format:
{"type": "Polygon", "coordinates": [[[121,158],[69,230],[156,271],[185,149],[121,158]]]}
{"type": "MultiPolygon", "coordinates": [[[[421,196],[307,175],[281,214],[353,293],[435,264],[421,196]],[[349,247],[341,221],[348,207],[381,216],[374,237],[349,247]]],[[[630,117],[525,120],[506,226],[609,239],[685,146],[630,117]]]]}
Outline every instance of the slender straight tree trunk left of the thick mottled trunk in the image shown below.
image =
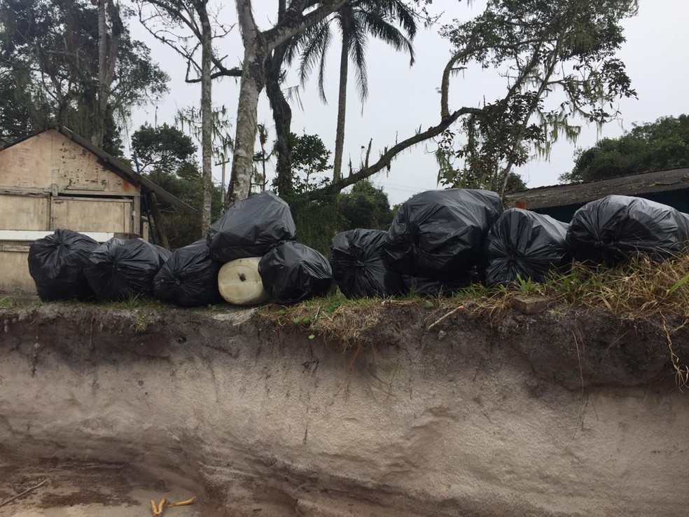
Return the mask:
{"type": "Polygon", "coordinates": [[[196,11],[201,20],[201,169],[203,177],[203,209],[201,214],[201,233],[204,235],[211,226],[211,199],[213,194],[213,121],[211,118],[211,22],[206,10],[206,0],[198,1],[196,11]]]}

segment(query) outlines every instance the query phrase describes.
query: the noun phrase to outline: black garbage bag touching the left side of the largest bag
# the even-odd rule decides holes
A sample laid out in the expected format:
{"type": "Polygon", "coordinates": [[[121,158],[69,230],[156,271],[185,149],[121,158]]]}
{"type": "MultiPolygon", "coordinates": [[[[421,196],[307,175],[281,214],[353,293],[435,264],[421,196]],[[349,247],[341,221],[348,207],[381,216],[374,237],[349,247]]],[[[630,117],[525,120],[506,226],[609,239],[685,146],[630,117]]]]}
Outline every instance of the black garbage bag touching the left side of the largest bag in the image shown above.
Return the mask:
{"type": "Polygon", "coordinates": [[[347,298],[394,296],[405,291],[402,277],[390,268],[382,230],[349,230],[330,243],[330,266],[340,291],[347,298]]]}

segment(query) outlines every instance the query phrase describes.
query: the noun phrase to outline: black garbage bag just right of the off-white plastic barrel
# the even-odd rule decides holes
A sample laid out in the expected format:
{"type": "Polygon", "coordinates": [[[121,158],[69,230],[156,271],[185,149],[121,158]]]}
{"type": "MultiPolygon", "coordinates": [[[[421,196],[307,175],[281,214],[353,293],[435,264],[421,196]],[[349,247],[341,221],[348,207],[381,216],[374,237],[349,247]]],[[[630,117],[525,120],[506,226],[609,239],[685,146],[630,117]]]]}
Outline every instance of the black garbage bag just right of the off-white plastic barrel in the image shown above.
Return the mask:
{"type": "Polygon", "coordinates": [[[268,251],[258,263],[258,274],[277,303],[325,296],[334,285],[328,259],[299,242],[281,242],[268,251]]]}

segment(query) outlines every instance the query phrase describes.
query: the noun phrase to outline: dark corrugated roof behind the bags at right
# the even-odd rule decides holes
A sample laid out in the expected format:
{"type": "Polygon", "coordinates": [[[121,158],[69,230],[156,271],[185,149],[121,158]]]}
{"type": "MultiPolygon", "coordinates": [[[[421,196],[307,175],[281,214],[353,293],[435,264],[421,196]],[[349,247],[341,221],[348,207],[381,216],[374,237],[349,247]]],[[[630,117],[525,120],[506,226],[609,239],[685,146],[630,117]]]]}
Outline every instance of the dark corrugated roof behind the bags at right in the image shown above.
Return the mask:
{"type": "Polygon", "coordinates": [[[506,198],[510,205],[522,201],[531,209],[583,204],[611,194],[641,195],[683,188],[689,189],[689,169],[643,172],[590,183],[529,188],[527,191],[510,193],[506,198]]]}

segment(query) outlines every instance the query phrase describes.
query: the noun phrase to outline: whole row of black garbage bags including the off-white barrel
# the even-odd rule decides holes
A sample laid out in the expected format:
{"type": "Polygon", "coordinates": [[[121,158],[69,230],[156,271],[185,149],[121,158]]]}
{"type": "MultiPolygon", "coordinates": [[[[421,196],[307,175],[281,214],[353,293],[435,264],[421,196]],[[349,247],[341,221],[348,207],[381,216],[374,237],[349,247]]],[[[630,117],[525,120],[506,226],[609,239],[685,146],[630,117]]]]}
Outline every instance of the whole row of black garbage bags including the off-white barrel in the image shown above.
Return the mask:
{"type": "Polygon", "coordinates": [[[450,295],[475,282],[543,282],[572,258],[615,266],[636,254],[664,260],[689,244],[689,215],[660,203],[608,195],[571,223],[507,209],[494,192],[427,191],[399,207],[389,230],[333,238],[330,261],[295,241],[289,206],[269,192],[230,208],[204,239],[173,252],[143,239],[104,244],[55,230],[29,250],[42,300],[155,296],[182,307],[228,301],[297,303],[340,288],[347,298],[450,295]]]}

